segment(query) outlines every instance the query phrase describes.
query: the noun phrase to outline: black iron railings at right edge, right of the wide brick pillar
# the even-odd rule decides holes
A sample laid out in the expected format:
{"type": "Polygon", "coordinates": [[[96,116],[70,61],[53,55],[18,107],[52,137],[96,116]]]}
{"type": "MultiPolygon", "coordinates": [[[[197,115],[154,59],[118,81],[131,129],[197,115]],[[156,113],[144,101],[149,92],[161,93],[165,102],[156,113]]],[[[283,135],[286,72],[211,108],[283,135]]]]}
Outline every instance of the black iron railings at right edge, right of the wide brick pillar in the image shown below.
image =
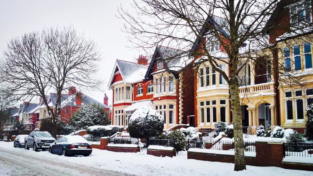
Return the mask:
{"type": "Polygon", "coordinates": [[[312,157],[313,142],[286,142],[284,143],[284,157],[312,157]]]}

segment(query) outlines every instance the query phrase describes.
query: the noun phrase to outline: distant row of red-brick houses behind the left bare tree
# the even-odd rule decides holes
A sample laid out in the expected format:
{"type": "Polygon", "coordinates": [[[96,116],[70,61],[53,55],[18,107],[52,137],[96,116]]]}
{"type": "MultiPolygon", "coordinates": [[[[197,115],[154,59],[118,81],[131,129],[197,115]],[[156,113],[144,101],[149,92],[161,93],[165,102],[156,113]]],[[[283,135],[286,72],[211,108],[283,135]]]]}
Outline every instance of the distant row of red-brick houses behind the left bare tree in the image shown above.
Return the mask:
{"type": "MultiPolygon", "coordinates": [[[[57,99],[56,93],[49,93],[47,96],[48,106],[54,109],[57,99]]],[[[73,114],[86,104],[99,104],[105,111],[110,113],[110,106],[108,106],[108,97],[105,94],[103,103],[85,95],[84,93],[77,91],[76,87],[70,87],[67,94],[61,95],[61,113],[59,120],[65,123],[69,123],[73,114]]],[[[24,101],[19,107],[10,108],[10,120],[5,129],[15,129],[15,122],[22,121],[26,129],[34,130],[40,127],[40,122],[43,118],[50,117],[46,105],[42,98],[38,103],[30,103],[24,101]]]]}

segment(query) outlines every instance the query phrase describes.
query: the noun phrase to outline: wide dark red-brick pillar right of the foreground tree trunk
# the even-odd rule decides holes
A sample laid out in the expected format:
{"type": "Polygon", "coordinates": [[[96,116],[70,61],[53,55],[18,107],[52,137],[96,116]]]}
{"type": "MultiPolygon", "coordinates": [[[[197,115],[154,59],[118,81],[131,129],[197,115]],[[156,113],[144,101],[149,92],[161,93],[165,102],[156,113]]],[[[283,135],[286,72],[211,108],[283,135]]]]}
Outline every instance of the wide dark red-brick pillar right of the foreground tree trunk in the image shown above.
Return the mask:
{"type": "Polygon", "coordinates": [[[256,165],[257,166],[282,166],[284,157],[284,145],[281,142],[256,142],[256,165]]]}

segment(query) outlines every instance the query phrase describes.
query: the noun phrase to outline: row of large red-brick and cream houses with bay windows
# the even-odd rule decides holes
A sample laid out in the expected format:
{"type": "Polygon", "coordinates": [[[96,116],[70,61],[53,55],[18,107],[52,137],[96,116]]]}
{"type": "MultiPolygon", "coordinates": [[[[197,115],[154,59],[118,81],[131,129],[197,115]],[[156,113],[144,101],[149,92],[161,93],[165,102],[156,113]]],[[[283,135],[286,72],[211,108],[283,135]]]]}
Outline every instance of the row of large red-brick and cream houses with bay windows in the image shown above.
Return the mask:
{"type": "MultiPolygon", "coordinates": [[[[289,11],[288,6],[281,8],[280,13],[295,15],[289,11]]],[[[312,14],[298,19],[311,21],[312,14]]],[[[223,21],[219,17],[208,20],[213,27],[223,21]]],[[[280,19],[275,23],[285,24],[288,20],[280,19]]],[[[273,46],[275,44],[277,50],[277,54],[271,56],[274,58],[270,60],[285,65],[289,63],[292,68],[301,65],[298,71],[306,74],[307,86],[294,86],[295,91],[291,91],[288,85],[279,84],[279,74],[276,74],[278,77],[274,77],[275,73],[271,74],[273,64],[264,66],[249,61],[244,66],[244,71],[239,73],[243,126],[252,127],[254,134],[259,125],[268,124],[303,133],[305,109],[313,100],[312,41],[306,40],[313,32],[311,30],[285,39],[278,39],[284,32],[275,31],[275,28],[266,33],[269,34],[269,42],[273,46]],[[286,40],[290,40],[287,43],[292,44],[286,46],[286,40]],[[301,59],[297,59],[299,57],[301,59]],[[294,64],[290,64],[290,60],[294,64]]],[[[245,47],[242,47],[243,53],[245,47]]],[[[197,47],[193,49],[196,50],[197,47]]],[[[228,65],[223,62],[228,62],[228,56],[222,45],[213,41],[210,50],[219,59],[216,61],[220,68],[229,73],[228,65]]],[[[127,127],[132,113],[141,106],[150,106],[158,111],[164,117],[165,129],[189,124],[200,130],[214,128],[214,122],[232,122],[230,91],[224,78],[212,69],[208,61],[198,64],[202,56],[175,57],[180,52],[182,51],[157,46],[150,59],[140,55],[137,62],[116,60],[108,85],[113,90],[112,124],[127,127]]]]}

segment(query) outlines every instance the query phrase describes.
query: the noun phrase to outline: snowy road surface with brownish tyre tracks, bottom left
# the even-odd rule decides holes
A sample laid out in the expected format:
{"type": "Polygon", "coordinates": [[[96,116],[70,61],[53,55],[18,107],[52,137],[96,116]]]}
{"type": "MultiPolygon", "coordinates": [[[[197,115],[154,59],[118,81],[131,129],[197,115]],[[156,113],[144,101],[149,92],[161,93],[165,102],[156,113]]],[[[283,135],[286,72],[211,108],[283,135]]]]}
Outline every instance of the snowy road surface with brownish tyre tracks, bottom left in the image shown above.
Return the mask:
{"type": "Polygon", "coordinates": [[[30,154],[23,153],[24,149],[18,150],[21,151],[12,151],[6,148],[1,148],[0,175],[32,175],[32,176],[127,175],[126,173],[118,173],[116,171],[95,169],[78,164],[61,162],[53,158],[47,157],[43,158],[40,156],[36,156],[36,153],[30,154]]]}

